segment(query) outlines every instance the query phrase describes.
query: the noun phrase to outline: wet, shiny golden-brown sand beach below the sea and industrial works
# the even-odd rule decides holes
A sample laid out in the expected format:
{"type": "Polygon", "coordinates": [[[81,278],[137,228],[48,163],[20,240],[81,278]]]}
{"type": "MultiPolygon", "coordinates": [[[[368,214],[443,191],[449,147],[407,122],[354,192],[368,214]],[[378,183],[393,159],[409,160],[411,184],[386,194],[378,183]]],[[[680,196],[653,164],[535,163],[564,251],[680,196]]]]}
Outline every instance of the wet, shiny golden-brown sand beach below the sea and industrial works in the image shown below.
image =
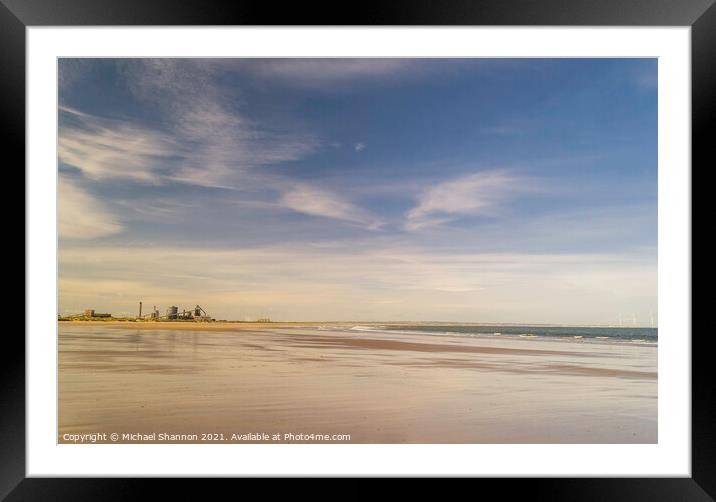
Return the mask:
{"type": "Polygon", "coordinates": [[[58,442],[657,441],[655,346],[351,326],[62,322],[58,442]]]}

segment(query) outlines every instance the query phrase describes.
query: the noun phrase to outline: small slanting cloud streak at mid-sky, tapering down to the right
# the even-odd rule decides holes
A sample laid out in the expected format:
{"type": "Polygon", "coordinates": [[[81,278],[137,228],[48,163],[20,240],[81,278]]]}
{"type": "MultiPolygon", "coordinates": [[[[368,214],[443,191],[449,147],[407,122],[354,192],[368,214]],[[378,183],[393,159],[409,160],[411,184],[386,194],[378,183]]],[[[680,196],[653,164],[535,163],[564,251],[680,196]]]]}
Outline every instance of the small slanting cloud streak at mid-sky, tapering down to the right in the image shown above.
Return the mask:
{"type": "Polygon", "coordinates": [[[349,223],[377,229],[382,222],[368,211],[338,194],[307,184],[296,185],[284,192],[279,205],[297,211],[342,220],[349,223]]]}

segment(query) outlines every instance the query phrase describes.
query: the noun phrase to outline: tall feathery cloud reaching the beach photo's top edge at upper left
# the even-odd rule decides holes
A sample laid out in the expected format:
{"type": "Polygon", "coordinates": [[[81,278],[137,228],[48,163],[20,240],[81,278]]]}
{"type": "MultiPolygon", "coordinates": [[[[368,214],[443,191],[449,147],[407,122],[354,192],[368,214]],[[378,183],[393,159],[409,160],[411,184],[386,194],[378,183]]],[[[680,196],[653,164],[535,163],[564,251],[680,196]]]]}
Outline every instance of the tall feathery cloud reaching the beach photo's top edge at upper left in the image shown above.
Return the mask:
{"type": "Polygon", "coordinates": [[[126,70],[135,96],[158,104],[186,146],[173,179],[235,187],[248,169],[299,160],[316,150],[318,139],[310,133],[247,118],[236,105],[240,89],[219,83],[222,69],[218,62],[147,59],[126,70]]]}

